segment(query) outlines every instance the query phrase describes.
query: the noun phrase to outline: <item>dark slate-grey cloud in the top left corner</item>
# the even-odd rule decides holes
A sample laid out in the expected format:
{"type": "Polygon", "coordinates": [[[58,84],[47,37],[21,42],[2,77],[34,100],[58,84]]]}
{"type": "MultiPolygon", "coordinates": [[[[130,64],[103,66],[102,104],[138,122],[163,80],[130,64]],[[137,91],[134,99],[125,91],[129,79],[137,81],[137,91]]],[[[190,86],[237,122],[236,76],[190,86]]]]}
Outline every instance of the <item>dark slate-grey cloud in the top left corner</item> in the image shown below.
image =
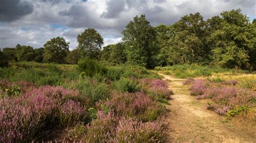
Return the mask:
{"type": "Polygon", "coordinates": [[[33,6],[20,0],[3,0],[0,4],[0,22],[12,22],[32,13],[33,6]]]}

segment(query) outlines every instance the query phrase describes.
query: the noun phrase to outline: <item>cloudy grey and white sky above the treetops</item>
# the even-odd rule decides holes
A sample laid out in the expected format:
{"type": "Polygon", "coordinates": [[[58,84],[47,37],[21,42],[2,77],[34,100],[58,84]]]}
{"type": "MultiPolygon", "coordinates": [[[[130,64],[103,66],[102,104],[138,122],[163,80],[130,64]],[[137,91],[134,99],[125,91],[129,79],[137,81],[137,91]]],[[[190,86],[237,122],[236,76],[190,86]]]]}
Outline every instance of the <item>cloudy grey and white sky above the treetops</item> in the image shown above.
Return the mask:
{"type": "Polygon", "coordinates": [[[122,30],[136,15],[145,13],[153,26],[172,24],[189,13],[207,19],[221,11],[242,9],[255,18],[255,0],[0,0],[0,48],[17,44],[42,47],[54,37],[64,37],[70,49],[76,37],[93,27],[104,46],[122,39],[122,30]]]}

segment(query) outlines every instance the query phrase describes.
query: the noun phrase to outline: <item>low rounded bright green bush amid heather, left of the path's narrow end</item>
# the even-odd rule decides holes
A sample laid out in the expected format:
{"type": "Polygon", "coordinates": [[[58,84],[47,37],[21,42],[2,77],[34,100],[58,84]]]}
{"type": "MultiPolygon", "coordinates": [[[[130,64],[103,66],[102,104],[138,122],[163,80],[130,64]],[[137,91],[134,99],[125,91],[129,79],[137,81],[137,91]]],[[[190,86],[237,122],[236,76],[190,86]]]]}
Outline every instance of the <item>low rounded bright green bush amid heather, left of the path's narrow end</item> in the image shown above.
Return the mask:
{"type": "Polygon", "coordinates": [[[120,80],[116,81],[113,86],[114,89],[120,92],[137,92],[142,88],[138,84],[137,80],[125,77],[121,77],[120,80]]]}

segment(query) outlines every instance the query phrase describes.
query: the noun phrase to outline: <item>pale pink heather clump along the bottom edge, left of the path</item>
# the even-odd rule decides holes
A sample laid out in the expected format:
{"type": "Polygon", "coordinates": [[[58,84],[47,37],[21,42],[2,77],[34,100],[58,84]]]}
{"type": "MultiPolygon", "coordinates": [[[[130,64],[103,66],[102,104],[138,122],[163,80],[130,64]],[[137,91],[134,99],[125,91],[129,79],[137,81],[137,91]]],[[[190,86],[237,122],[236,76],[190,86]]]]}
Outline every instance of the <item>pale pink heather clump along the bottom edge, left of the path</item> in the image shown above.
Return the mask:
{"type": "Polygon", "coordinates": [[[166,136],[163,121],[143,123],[136,119],[116,117],[112,112],[87,125],[84,142],[163,142],[166,136]]]}

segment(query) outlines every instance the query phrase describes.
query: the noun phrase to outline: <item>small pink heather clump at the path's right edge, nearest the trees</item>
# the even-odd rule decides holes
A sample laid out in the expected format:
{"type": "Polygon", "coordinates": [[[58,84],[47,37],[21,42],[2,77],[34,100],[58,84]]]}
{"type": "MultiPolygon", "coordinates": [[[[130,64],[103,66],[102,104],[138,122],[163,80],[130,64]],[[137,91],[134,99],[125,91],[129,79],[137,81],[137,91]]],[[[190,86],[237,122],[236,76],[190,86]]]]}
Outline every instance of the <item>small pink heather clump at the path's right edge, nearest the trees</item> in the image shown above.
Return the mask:
{"type": "Polygon", "coordinates": [[[190,95],[198,96],[203,95],[206,90],[205,81],[194,80],[193,84],[190,86],[190,95]]]}

